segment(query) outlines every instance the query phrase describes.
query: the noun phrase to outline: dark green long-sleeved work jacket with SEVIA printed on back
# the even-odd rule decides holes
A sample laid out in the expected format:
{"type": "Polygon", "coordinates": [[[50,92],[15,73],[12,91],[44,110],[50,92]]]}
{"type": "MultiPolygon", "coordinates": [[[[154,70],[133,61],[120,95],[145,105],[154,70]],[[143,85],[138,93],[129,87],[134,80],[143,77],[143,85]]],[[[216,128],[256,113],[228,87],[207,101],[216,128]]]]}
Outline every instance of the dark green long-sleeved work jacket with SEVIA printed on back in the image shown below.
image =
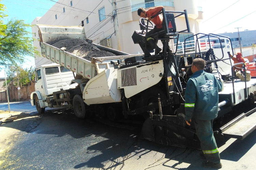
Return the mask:
{"type": "Polygon", "coordinates": [[[185,92],[186,120],[192,115],[195,119],[212,120],[218,115],[218,92],[222,91],[221,79],[198,70],[191,75],[185,92]]]}

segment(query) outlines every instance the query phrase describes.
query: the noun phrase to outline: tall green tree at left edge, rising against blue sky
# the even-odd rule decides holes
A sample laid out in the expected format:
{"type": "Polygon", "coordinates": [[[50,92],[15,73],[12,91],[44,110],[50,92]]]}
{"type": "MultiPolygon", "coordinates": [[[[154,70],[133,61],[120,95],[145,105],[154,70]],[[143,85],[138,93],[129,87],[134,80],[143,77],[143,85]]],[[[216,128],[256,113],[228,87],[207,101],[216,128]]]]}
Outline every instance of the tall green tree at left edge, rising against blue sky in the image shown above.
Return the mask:
{"type": "Polygon", "coordinates": [[[0,4],[0,65],[20,64],[24,62],[24,56],[38,54],[33,48],[32,37],[29,37],[31,33],[26,31],[31,26],[19,19],[11,19],[4,24],[4,9],[0,4]]]}

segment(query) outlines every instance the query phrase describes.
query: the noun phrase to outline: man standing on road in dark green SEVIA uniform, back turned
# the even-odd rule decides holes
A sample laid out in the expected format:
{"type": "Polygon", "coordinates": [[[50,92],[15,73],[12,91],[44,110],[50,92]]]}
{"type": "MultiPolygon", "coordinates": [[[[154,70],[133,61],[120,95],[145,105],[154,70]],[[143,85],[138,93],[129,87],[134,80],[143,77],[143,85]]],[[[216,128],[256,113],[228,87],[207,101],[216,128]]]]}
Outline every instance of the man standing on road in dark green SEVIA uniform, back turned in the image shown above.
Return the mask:
{"type": "Polygon", "coordinates": [[[213,136],[212,123],[218,114],[218,92],[223,85],[220,78],[204,72],[205,61],[193,60],[192,75],[187,82],[185,92],[186,123],[190,125],[193,116],[197,136],[206,161],[204,167],[221,168],[221,159],[213,136]]]}

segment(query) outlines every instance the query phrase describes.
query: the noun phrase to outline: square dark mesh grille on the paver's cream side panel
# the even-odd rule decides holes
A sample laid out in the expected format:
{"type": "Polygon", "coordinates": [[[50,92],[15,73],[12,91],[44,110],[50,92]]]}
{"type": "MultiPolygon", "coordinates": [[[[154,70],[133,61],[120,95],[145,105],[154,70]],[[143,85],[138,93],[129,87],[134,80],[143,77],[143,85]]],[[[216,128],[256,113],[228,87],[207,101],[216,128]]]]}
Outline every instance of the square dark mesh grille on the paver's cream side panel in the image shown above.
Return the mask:
{"type": "Polygon", "coordinates": [[[122,70],[121,77],[122,77],[121,79],[122,87],[136,86],[137,85],[136,67],[122,70]]]}

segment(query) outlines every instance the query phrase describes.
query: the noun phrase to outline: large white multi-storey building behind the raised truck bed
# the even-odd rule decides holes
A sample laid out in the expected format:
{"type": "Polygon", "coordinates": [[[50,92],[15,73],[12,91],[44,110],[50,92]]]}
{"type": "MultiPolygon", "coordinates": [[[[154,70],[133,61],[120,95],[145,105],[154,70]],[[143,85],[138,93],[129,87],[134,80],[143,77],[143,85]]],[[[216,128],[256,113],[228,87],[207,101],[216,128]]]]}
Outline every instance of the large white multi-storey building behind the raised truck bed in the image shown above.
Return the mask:
{"type": "MultiPolygon", "coordinates": [[[[134,30],[140,29],[140,17],[137,14],[139,7],[147,9],[162,5],[166,11],[187,10],[190,31],[193,33],[199,32],[199,21],[203,19],[198,0],[117,0],[113,5],[112,1],[114,0],[58,0],[42,17],[35,18],[32,25],[82,26],[83,21],[86,36],[92,39],[93,43],[135,54],[142,51],[131,38],[134,30]],[[117,45],[118,39],[114,30],[113,8],[117,13],[120,47],[117,45]]],[[[175,23],[177,30],[186,28],[184,17],[177,17],[175,23]]],[[[33,38],[38,39],[38,30],[35,27],[32,27],[32,33],[33,38]]],[[[34,46],[39,47],[39,42],[34,41],[34,46]]],[[[47,63],[51,62],[42,57],[35,57],[36,67],[47,63]]]]}

